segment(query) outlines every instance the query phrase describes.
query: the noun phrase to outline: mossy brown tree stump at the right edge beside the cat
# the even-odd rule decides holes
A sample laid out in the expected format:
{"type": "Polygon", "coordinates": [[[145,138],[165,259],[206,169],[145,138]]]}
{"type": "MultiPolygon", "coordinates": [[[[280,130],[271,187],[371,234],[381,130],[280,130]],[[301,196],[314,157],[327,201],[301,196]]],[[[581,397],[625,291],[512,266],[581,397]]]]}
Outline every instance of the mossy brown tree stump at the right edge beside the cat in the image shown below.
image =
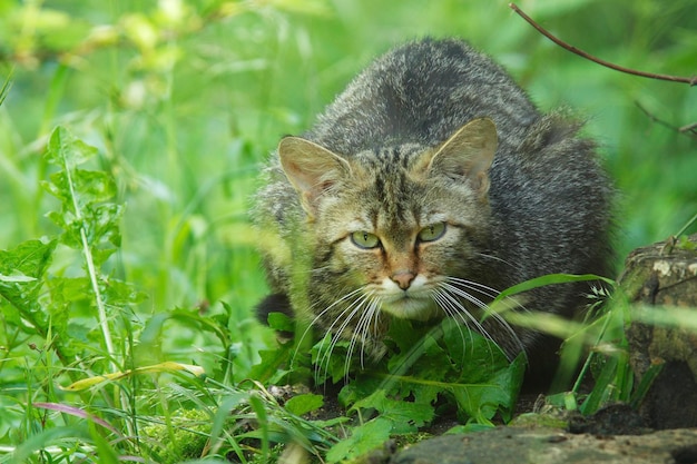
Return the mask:
{"type": "Polygon", "coordinates": [[[674,241],[636,249],[620,277],[635,386],[661,366],[639,409],[655,428],[697,426],[697,234],[674,241]]]}

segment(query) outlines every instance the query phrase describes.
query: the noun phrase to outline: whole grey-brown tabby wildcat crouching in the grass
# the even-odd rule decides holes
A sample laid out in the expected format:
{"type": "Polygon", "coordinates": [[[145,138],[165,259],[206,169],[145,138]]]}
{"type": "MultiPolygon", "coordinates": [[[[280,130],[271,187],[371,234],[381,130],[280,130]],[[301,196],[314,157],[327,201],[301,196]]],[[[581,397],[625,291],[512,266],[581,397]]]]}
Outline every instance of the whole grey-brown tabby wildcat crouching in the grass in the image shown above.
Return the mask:
{"type": "MultiPolygon", "coordinates": [[[[465,42],[387,52],[271,157],[253,211],[272,288],[259,313],[375,356],[395,317],[450,316],[510,356],[533,351],[534,330],[481,316],[533,277],[608,274],[612,189],[580,127],[465,42]]],[[[587,292],[538,288],[520,310],[571,315],[587,292]]]]}

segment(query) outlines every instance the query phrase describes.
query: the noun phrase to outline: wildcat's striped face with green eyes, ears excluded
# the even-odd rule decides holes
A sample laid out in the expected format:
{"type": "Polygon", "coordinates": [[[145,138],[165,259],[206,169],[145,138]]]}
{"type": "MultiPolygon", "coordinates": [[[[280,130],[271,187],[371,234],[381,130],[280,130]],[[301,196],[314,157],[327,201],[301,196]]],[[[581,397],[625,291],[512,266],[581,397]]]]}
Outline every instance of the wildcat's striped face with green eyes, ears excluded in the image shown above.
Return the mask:
{"type": "Polygon", "coordinates": [[[439,314],[433,289],[474,254],[468,234],[473,221],[487,223],[488,204],[472,189],[453,192],[413,174],[393,169],[385,179],[373,170],[360,175],[364,188],[351,177],[336,186],[313,224],[320,247],[331,249],[315,268],[338,276],[336,297],[362,287],[381,312],[424,320],[439,314]]]}

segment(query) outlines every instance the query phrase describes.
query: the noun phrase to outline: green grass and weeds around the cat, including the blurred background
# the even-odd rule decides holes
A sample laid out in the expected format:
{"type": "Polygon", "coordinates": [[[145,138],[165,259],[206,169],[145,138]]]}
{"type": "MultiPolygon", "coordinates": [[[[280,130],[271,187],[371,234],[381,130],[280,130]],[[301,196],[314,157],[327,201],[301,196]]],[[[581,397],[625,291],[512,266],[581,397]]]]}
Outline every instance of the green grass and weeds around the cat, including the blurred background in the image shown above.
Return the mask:
{"type": "MultiPolygon", "coordinates": [[[[605,59],[695,72],[689,1],[520,6],[605,59]]],[[[0,463],[181,462],[200,457],[200,443],[206,462],[267,462],[278,442],[312,455],[338,441],[336,423],[302,419],[245,382],[274,346],[253,315],[266,286],[249,197],[283,135],[312,125],[373,57],[424,34],[467,38],[542,109],[589,117],[622,192],[618,266],[695,215],[695,139],[636,105],[685,126],[697,120],[694,89],[571,56],[505,1],[6,1],[0,463]]],[[[306,399],[294,411],[316,406],[306,399]]]]}

